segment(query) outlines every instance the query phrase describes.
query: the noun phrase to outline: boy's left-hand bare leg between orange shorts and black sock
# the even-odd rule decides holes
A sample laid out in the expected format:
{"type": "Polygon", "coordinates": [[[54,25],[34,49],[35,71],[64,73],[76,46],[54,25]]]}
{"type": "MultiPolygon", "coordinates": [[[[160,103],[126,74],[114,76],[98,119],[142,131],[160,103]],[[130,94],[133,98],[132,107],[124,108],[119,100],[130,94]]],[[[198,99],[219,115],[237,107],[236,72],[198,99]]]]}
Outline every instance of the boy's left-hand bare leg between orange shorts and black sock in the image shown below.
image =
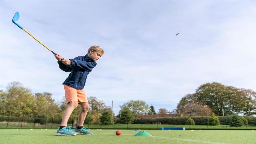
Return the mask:
{"type": "Polygon", "coordinates": [[[73,110],[77,107],[77,101],[71,101],[69,103],[69,106],[66,108],[66,110],[63,113],[62,121],[61,121],[61,126],[67,126],[69,117],[73,110]]]}

